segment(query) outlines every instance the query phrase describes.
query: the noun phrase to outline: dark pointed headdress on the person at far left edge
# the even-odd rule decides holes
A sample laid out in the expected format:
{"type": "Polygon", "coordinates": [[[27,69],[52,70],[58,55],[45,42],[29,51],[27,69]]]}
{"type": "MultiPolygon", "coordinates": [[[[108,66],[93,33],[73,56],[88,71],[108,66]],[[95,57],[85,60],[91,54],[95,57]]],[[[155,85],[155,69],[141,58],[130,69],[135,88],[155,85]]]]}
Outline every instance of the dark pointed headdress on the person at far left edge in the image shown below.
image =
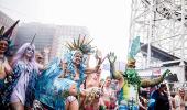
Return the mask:
{"type": "Polygon", "coordinates": [[[8,50],[6,52],[6,55],[10,56],[13,52],[14,48],[14,45],[13,43],[11,42],[11,35],[12,35],[12,32],[13,32],[13,29],[16,26],[16,24],[20,22],[20,20],[18,20],[12,26],[10,26],[6,32],[4,32],[4,26],[2,26],[0,29],[0,40],[4,40],[8,42],[8,50]]]}

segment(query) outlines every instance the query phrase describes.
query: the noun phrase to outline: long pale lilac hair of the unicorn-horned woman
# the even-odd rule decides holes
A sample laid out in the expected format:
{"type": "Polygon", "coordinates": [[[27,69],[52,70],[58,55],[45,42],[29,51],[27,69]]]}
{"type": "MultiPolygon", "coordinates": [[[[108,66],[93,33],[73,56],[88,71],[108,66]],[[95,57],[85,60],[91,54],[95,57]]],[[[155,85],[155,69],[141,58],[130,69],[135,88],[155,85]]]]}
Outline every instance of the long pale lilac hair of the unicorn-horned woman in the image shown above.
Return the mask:
{"type": "Polygon", "coordinates": [[[35,46],[30,43],[24,43],[16,52],[16,54],[14,55],[13,57],[13,61],[12,61],[12,66],[14,66],[20,59],[22,59],[24,57],[24,53],[25,53],[25,50],[29,47],[29,46],[32,46],[33,47],[33,56],[31,57],[31,61],[30,61],[30,64],[32,67],[34,68],[37,68],[36,67],[36,62],[35,62],[35,46]]]}

